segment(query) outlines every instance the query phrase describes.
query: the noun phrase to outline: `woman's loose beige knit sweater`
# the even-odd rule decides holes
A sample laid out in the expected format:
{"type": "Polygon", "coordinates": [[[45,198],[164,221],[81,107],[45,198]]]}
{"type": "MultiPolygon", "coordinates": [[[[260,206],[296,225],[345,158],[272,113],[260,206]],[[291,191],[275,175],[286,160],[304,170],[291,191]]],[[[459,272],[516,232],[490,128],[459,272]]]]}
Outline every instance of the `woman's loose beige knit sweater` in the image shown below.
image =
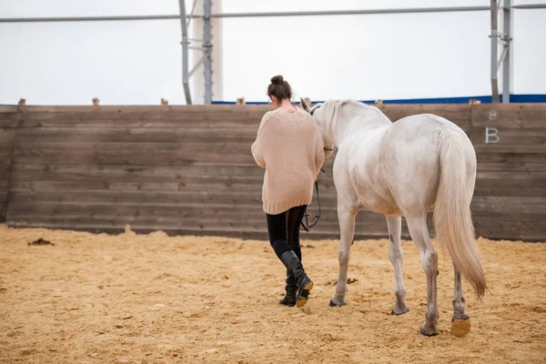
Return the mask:
{"type": "Polygon", "coordinates": [[[324,163],[324,145],[313,117],[296,107],[280,107],[263,116],[252,156],[265,167],[264,211],[277,215],[291,207],[309,205],[313,185],[324,163]]]}

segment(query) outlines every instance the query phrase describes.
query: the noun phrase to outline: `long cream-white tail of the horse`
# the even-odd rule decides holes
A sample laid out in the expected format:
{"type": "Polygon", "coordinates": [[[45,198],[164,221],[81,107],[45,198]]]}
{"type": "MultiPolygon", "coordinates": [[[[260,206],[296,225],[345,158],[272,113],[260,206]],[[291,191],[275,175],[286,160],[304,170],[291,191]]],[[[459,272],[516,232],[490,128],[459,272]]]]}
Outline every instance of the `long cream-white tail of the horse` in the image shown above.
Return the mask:
{"type": "Polygon", "coordinates": [[[461,142],[459,136],[449,132],[440,137],[440,185],[434,225],[438,239],[450,252],[453,265],[468,279],[480,298],[485,293],[486,284],[470,216],[472,196],[469,189],[473,190],[473,182],[469,181],[467,158],[461,142]]]}

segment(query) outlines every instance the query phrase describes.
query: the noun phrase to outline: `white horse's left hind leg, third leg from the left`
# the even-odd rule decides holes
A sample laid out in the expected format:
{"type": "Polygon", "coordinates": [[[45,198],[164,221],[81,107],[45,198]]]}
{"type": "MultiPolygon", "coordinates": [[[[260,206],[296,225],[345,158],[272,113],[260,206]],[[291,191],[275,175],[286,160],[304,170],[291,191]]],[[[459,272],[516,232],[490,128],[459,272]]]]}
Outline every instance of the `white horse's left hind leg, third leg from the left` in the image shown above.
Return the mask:
{"type": "Polygon", "coordinates": [[[437,275],[438,254],[432,247],[427,227],[427,215],[418,217],[406,217],[410,235],[413,242],[420,250],[421,262],[427,276],[427,308],[425,309],[425,322],[421,325],[420,333],[426,336],[438,335],[438,301],[437,301],[437,275]]]}

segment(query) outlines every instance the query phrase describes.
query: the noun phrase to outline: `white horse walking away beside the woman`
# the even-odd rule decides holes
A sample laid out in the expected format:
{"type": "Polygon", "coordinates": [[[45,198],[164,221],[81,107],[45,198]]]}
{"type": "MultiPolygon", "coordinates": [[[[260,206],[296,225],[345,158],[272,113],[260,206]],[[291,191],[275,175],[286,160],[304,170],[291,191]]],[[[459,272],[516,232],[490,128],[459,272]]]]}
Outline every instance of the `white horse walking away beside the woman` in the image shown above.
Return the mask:
{"type": "Polygon", "coordinates": [[[355,217],[367,208],[387,217],[389,258],[396,280],[391,314],[408,312],[400,248],[404,216],[427,277],[426,319],[420,332],[437,335],[438,255],[427,227],[427,214],[434,210],[438,239],[447,246],[455,268],[452,322],[464,320],[463,327],[470,329],[460,276],[468,279],[478,297],[483,296],[486,283],[470,217],[476,154],[469,137],[449,120],[430,114],[392,123],[379,108],[358,101],[332,100],[310,108],[301,99],[301,105],[319,124],[327,157],[338,147],[333,172],[338,192],[339,280],[330,306],[346,304],[355,217]]]}

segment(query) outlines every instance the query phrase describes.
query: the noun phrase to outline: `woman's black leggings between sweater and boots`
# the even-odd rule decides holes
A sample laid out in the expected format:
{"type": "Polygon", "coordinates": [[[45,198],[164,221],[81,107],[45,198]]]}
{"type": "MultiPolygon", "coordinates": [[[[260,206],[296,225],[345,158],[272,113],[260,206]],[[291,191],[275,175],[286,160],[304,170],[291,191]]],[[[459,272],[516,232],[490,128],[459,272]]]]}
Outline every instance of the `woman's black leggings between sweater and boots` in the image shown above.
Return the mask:
{"type": "Polygon", "coordinates": [[[271,247],[280,258],[282,253],[294,250],[301,261],[301,248],[299,247],[299,225],[303,219],[306,206],[292,207],[288,211],[278,215],[269,215],[268,233],[271,247]]]}

